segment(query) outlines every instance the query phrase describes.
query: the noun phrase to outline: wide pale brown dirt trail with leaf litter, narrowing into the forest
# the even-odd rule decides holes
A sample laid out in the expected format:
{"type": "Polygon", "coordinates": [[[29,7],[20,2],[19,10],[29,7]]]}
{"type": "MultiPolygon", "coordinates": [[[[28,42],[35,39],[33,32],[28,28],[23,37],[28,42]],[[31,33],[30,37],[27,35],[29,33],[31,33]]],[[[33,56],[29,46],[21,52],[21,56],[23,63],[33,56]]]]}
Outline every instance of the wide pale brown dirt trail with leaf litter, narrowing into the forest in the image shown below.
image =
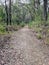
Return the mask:
{"type": "Polygon", "coordinates": [[[0,48],[0,65],[49,65],[49,46],[28,26],[13,32],[5,42],[0,48]]]}

